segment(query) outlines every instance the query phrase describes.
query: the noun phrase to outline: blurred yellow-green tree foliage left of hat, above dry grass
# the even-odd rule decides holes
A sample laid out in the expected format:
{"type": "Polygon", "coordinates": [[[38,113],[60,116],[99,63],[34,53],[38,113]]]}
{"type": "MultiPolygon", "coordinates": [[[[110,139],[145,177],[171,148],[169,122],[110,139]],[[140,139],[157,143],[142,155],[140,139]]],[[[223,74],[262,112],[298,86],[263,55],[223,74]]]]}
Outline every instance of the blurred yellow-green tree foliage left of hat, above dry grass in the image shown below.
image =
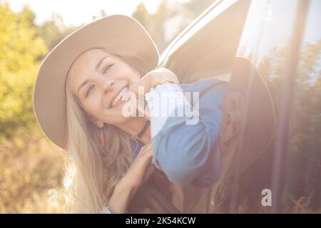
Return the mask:
{"type": "Polygon", "coordinates": [[[19,14],[0,4],[0,140],[34,125],[32,90],[39,58],[48,49],[25,7],[19,14]]]}

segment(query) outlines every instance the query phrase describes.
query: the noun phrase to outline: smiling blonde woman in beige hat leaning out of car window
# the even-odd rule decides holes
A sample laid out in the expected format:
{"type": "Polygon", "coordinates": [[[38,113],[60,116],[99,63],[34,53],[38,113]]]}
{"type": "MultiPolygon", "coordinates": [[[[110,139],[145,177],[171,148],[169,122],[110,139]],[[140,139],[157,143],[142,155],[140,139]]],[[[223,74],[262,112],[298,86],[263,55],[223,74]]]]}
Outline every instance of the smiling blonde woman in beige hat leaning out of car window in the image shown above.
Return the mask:
{"type": "Polygon", "coordinates": [[[174,212],[185,212],[184,187],[220,177],[216,142],[228,83],[182,85],[157,66],[151,37],[122,15],[78,28],[44,59],[34,111],[46,137],[68,151],[67,212],[168,212],[155,206],[167,199],[174,212]],[[188,100],[185,91],[197,95],[188,100]],[[172,109],[163,102],[169,93],[172,109]],[[136,97],[128,102],[125,95],[136,97]],[[125,115],[133,101],[136,115],[125,115]],[[192,116],[157,115],[159,108],[177,113],[185,106],[192,116]],[[147,183],[163,198],[144,192],[147,183]]]}

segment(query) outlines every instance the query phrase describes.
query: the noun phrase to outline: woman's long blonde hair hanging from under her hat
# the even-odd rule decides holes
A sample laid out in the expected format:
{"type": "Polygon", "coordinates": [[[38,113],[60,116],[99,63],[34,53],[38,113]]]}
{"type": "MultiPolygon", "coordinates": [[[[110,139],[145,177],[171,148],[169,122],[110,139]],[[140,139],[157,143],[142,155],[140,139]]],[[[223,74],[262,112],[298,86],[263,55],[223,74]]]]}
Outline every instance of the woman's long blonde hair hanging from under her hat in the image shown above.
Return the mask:
{"type": "MultiPolygon", "coordinates": [[[[133,53],[101,49],[135,67],[142,76],[148,71],[146,62],[133,53]]],[[[103,135],[108,156],[103,157],[99,143],[100,129],[87,118],[70,88],[67,77],[68,160],[63,210],[67,213],[100,213],[103,203],[111,197],[115,185],[133,162],[130,136],[105,123],[103,135]]]]}

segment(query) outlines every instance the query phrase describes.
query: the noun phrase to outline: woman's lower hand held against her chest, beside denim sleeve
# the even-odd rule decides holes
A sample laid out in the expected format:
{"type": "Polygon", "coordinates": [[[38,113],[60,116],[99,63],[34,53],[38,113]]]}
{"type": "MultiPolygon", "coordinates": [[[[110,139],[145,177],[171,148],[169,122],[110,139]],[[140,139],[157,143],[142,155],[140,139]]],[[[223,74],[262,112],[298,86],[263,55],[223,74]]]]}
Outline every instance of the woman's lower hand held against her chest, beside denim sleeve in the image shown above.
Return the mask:
{"type": "Polygon", "coordinates": [[[155,170],[155,166],[151,164],[152,156],[153,146],[151,143],[141,147],[133,164],[129,167],[126,175],[121,179],[122,184],[132,189],[137,189],[143,185],[155,170]]]}

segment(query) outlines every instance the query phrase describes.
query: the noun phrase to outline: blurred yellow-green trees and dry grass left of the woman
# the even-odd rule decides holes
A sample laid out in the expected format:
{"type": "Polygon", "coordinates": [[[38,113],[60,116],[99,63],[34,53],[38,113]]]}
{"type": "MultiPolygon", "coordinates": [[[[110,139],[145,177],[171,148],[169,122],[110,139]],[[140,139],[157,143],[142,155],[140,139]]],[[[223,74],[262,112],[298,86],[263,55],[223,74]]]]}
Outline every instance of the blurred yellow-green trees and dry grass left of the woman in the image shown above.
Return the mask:
{"type": "Polygon", "coordinates": [[[60,191],[63,156],[41,134],[32,103],[41,59],[58,38],[34,18],[27,6],[14,13],[0,1],[0,213],[61,212],[47,191],[60,191]]]}

